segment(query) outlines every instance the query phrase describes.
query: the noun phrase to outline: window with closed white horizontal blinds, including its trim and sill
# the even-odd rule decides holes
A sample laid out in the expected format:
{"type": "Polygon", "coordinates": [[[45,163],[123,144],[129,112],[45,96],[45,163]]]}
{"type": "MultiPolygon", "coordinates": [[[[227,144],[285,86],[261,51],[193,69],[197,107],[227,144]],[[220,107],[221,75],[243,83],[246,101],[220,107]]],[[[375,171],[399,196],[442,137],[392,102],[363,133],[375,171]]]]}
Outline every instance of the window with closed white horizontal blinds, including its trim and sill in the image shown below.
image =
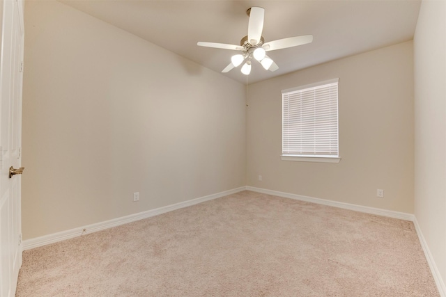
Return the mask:
{"type": "Polygon", "coordinates": [[[282,90],[282,160],[339,162],[338,81],[282,90]]]}

